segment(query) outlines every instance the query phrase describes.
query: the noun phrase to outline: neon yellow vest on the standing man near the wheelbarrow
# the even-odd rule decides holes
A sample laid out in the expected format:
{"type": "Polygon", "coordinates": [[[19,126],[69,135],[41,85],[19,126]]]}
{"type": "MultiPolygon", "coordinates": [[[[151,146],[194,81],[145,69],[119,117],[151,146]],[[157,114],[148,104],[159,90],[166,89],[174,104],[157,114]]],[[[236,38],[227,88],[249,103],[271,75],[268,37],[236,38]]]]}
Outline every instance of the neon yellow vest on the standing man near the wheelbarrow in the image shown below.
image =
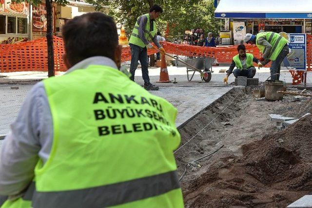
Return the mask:
{"type": "MultiPolygon", "coordinates": [[[[155,21],[153,21],[154,28],[153,28],[153,31],[150,31],[150,15],[145,14],[144,16],[147,17],[147,22],[146,22],[145,29],[144,29],[144,36],[145,36],[146,40],[151,41],[157,32],[156,23],[155,23],[155,21]]],[[[138,35],[139,20],[141,17],[142,16],[137,18],[137,22],[133,28],[132,34],[131,34],[130,39],[129,39],[129,43],[132,43],[132,44],[135,44],[135,45],[138,45],[138,46],[144,48],[145,43],[140,39],[140,37],[138,35]]]]}

